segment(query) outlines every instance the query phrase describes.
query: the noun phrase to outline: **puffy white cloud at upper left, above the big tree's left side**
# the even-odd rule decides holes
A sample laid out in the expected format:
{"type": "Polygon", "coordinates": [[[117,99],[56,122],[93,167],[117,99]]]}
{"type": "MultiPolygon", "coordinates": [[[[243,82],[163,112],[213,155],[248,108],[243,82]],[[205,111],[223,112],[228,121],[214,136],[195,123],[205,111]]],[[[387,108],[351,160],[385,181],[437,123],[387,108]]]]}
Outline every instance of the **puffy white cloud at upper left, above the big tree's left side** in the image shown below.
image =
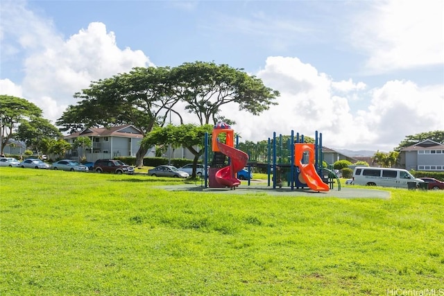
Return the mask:
{"type": "Polygon", "coordinates": [[[27,58],[23,85],[32,89],[33,97],[49,96],[59,103],[75,103],[72,95],[92,80],[148,64],[142,51],[119,49],[114,33],[107,33],[104,24],[92,23],[68,40],[60,40],[58,46],[27,58]]]}

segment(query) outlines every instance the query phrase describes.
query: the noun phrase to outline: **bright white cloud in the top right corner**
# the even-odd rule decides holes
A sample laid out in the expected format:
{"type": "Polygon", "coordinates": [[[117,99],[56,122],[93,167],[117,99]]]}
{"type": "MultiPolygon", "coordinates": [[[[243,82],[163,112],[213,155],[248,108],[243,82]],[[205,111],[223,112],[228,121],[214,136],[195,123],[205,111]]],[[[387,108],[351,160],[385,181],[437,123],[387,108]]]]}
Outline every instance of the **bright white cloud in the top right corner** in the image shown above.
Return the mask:
{"type": "Polygon", "coordinates": [[[355,17],[352,43],[369,58],[373,73],[444,63],[442,0],[374,1],[355,17]]]}

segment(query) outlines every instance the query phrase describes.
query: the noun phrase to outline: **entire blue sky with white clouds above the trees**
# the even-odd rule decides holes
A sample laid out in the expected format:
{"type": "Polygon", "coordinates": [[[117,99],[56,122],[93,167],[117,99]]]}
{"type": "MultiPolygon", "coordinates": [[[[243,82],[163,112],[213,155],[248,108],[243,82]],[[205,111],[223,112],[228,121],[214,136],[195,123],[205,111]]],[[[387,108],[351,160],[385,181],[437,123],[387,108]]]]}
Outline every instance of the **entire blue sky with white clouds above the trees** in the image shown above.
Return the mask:
{"type": "Polygon", "coordinates": [[[0,94],[52,123],[92,81],[195,61],[280,92],[259,116],[222,108],[240,141],[318,131],[329,148],[388,152],[444,130],[442,0],[0,0],[0,94]]]}

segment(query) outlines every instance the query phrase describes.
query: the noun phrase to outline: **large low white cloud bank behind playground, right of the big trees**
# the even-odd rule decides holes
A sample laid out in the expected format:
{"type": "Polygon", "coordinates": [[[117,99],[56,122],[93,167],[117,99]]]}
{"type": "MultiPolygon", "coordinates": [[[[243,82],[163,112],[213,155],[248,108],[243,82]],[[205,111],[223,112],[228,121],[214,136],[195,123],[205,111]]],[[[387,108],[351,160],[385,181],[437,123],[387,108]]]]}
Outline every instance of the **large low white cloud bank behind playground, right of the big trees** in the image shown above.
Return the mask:
{"type": "Polygon", "coordinates": [[[243,139],[259,141],[291,130],[314,137],[318,130],[325,146],[389,151],[409,134],[444,128],[441,85],[420,88],[411,81],[390,81],[368,94],[363,82],[334,82],[310,64],[282,57],[269,57],[257,76],[281,96],[279,105],[260,116],[226,109],[243,139]],[[344,96],[334,94],[338,87],[344,96]],[[370,96],[368,107],[353,114],[350,92],[370,96]]]}

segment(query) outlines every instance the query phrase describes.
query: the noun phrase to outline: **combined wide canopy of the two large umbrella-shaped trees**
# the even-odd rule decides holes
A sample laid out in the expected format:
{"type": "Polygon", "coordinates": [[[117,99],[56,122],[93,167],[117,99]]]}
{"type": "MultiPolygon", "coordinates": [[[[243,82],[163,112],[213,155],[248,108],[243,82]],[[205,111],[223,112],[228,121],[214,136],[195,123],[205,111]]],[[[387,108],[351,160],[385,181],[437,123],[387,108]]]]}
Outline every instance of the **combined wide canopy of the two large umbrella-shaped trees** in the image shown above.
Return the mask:
{"type": "MultiPolygon", "coordinates": [[[[92,82],[78,92],[77,105],[70,105],[56,122],[62,131],[78,132],[89,127],[131,124],[146,135],[167,123],[171,114],[184,123],[178,109],[196,114],[200,125],[223,117],[220,107],[236,103],[239,110],[259,114],[267,110],[279,92],[242,69],[213,62],[184,63],[179,67],[137,67],[129,73],[92,82]],[[183,105],[180,105],[183,107],[183,105]]],[[[141,166],[148,147],[140,146],[136,165],[141,166]]]]}

